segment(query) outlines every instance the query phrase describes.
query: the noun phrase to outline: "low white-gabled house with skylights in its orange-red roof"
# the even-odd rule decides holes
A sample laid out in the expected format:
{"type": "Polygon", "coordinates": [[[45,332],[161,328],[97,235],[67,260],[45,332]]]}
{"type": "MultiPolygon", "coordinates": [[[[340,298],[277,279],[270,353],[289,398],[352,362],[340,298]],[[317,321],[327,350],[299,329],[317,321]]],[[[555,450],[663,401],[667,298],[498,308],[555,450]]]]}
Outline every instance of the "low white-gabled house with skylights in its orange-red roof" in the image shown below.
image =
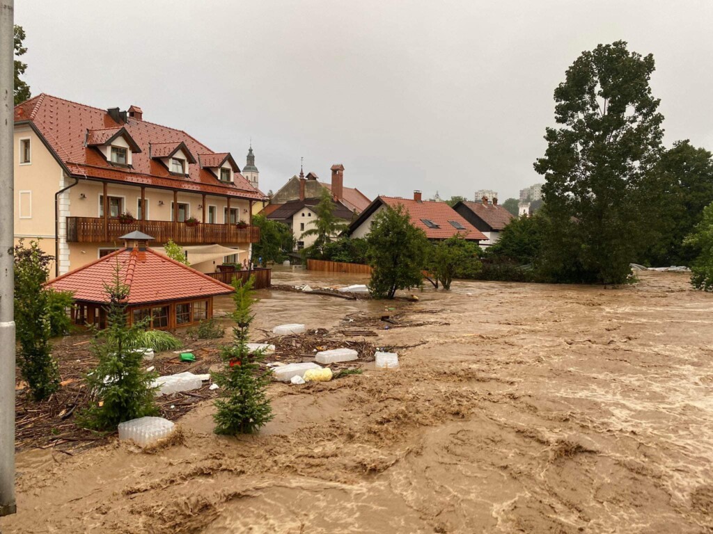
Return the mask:
{"type": "Polygon", "coordinates": [[[414,199],[401,197],[376,197],[359,217],[349,225],[347,234],[353,238],[363,238],[371,231],[374,216],[384,209],[404,206],[411,217],[411,224],[426,233],[428,239],[437,241],[460,234],[468,241],[485,241],[487,238],[445,202],[423,201],[421,192],[414,192],[414,199]]]}

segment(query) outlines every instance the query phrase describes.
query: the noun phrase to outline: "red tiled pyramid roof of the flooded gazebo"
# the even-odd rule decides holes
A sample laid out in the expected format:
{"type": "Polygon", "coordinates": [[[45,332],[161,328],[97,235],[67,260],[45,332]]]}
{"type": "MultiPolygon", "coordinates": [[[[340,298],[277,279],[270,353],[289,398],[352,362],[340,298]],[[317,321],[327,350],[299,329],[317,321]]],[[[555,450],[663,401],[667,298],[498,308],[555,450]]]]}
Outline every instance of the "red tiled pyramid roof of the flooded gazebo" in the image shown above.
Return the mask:
{"type": "Polygon", "coordinates": [[[129,286],[130,305],[187,300],[232,293],[232,287],[210,278],[168,256],[146,248],[122,248],[93,263],[58,276],[47,286],[72,291],[75,300],[108,302],[104,284],[111,285],[120,268],[122,283],[129,286]]]}

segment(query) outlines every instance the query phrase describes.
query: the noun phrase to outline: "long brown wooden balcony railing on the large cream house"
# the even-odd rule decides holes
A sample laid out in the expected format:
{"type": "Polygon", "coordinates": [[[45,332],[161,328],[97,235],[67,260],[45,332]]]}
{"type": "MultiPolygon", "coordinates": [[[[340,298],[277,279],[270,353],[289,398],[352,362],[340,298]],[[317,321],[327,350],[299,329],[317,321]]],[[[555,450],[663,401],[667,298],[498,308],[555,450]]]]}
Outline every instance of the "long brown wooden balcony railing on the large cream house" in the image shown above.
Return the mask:
{"type": "Polygon", "coordinates": [[[70,243],[113,243],[120,236],[139,230],[152,236],[156,244],[173,239],[180,245],[212,243],[257,243],[260,228],[235,224],[198,223],[189,225],[173,221],[133,221],[122,223],[119,219],[98,217],[67,217],[67,241],[70,243]]]}

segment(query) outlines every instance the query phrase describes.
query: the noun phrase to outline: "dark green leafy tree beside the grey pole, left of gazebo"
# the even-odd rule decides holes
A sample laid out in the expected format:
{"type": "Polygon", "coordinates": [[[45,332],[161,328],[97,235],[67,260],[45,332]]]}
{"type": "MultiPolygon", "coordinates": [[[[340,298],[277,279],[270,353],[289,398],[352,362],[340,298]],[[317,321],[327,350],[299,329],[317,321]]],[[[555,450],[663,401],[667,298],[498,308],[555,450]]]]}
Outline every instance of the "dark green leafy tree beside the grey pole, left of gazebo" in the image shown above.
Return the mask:
{"type": "Polygon", "coordinates": [[[49,397],[59,387],[59,368],[51,355],[51,290],[44,287],[53,256],[38,241],[14,249],[15,334],[19,342],[19,367],[36,400],[49,397]]]}

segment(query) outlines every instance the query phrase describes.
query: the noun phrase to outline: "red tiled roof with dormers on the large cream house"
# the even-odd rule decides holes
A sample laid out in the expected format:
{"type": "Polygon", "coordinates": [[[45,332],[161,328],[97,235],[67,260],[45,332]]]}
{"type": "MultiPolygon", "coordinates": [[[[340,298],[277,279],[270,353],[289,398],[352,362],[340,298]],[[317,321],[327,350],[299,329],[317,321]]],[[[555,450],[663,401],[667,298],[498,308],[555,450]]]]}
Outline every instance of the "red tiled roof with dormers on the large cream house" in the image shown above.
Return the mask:
{"type": "MultiPolygon", "coordinates": [[[[215,153],[183,130],[134,117],[127,117],[125,123],[119,123],[113,120],[107,110],[44,93],[16,105],[15,122],[29,122],[66,172],[75,177],[245,199],[267,199],[265,194],[255,189],[238,172],[235,173],[235,182],[232,184],[220,182],[210,170],[195,164],[189,166],[190,174],[185,177],[171,174],[162,162],[155,159],[158,153],[162,153],[156,152],[157,150],[165,150],[168,154],[173,150],[169,150],[170,147],[175,148],[185,143],[186,150],[191,155],[215,153]],[[109,139],[119,130],[125,130],[140,147],[141,152],[132,153],[130,168],[113,166],[96,147],[88,146],[86,142],[89,137],[92,141],[101,140],[103,137],[109,139]],[[152,145],[151,155],[149,144],[152,145]]],[[[186,155],[189,160],[193,157],[191,155],[186,155]]]]}

